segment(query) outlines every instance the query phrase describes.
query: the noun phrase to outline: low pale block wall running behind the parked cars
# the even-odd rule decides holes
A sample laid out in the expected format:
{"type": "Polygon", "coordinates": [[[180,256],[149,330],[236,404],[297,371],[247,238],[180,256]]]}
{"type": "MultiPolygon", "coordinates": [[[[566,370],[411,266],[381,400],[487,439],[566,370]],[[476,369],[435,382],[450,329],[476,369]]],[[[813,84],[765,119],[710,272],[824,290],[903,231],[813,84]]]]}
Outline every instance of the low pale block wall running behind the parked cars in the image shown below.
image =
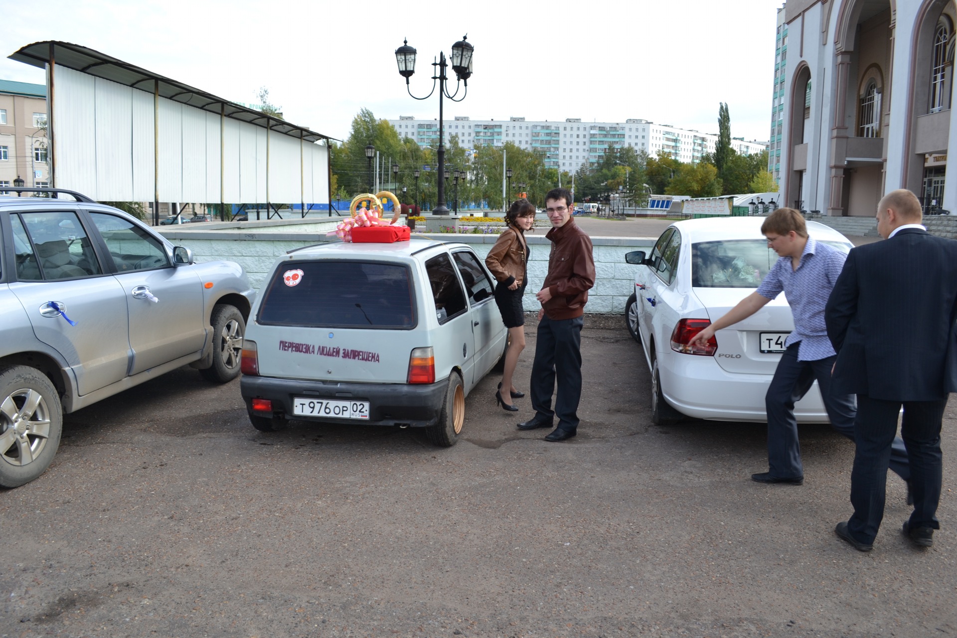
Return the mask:
{"type": "MultiPolygon", "coordinates": [[[[258,289],[269,274],[279,255],[303,246],[326,241],[339,241],[317,232],[236,232],[195,231],[183,227],[165,227],[159,230],[177,246],[189,248],[198,262],[215,259],[235,261],[249,275],[258,289]]],[[[494,234],[416,234],[440,241],[460,241],[469,244],[482,259],[495,244],[494,234]]],[[[625,263],[625,253],[651,252],[657,237],[592,237],[595,260],[595,285],[589,294],[586,310],[590,313],[625,312],[625,301],[634,292],[634,273],[637,266],[625,263]]],[[[544,236],[528,236],[528,285],[525,288],[525,310],[538,310],[541,304],[535,293],[542,289],[548,271],[548,253],[551,244],[544,236]]]]}

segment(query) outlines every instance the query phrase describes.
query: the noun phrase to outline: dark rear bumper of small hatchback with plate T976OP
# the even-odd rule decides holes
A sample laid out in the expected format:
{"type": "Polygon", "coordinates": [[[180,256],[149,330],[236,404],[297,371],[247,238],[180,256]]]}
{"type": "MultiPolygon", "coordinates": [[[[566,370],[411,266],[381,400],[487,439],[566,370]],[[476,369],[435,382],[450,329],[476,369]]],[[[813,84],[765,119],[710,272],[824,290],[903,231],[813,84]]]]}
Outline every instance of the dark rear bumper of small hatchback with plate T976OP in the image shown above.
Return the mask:
{"type": "Polygon", "coordinates": [[[247,375],[243,375],[239,382],[239,391],[246,403],[246,409],[251,414],[270,416],[269,413],[253,412],[253,399],[269,399],[273,402],[273,412],[281,412],[288,419],[412,428],[426,428],[438,422],[447,387],[445,380],[432,385],[345,384],[247,375]],[[358,420],[293,416],[295,397],[367,401],[369,418],[358,420]]]}

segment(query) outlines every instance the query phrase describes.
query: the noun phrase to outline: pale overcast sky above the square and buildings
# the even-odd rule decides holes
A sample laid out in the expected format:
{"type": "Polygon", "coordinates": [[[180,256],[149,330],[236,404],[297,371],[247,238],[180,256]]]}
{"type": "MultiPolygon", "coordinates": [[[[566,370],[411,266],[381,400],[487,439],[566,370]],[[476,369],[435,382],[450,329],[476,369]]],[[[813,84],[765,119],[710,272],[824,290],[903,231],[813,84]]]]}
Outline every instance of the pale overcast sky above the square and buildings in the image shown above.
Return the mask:
{"type": "MultiPolygon", "coordinates": [[[[418,50],[412,92],[428,94],[433,57],[468,33],[475,75],[447,119],[624,121],[641,118],[768,140],[779,0],[578,3],[9,2],[0,42],[10,55],[64,40],[213,95],[256,102],[269,89],[287,121],[344,139],[367,107],[378,118],[437,118],[437,98],[405,90],[394,51],[418,50]],[[441,12],[436,9],[441,7],[441,12]]],[[[451,69],[450,69],[451,74],[451,69]]],[[[4,57],[0,78],[43,83],[4,57]]]]}

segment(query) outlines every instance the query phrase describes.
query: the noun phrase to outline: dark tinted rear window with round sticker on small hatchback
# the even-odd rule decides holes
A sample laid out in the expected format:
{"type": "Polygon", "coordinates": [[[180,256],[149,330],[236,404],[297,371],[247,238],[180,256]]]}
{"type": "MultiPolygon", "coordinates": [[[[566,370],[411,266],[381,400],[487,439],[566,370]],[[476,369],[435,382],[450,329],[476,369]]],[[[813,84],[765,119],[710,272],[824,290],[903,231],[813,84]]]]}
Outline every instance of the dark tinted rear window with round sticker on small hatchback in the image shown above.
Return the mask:
{"type": "Polygon", "coordinates": [[[260,323],[402,329],[415,325],[412,273],[375,261],[290,261],[278,267],[260,323]]]}

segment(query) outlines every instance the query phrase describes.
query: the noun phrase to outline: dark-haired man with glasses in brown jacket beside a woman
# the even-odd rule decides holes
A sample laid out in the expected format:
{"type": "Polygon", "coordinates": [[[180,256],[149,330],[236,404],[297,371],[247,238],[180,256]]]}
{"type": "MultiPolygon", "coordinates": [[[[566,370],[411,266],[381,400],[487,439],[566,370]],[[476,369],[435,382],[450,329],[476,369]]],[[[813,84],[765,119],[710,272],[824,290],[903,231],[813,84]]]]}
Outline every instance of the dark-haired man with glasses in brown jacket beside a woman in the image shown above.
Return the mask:
{"type": "Polygon", "coordinates": [[[558,426],[545,441],[570,439],[578,430],[578,402],[582,396],[582,315],[595,283],[591,239],[571,219],[571,192],[552,188],[545,195],[551,230],[548,274],[536,298],[542,303],[535,341],[535,361],[529,382],[535,416],[519,429],[558,426]],[[555,409],[551,397],[555,393],[555,409]]]}

